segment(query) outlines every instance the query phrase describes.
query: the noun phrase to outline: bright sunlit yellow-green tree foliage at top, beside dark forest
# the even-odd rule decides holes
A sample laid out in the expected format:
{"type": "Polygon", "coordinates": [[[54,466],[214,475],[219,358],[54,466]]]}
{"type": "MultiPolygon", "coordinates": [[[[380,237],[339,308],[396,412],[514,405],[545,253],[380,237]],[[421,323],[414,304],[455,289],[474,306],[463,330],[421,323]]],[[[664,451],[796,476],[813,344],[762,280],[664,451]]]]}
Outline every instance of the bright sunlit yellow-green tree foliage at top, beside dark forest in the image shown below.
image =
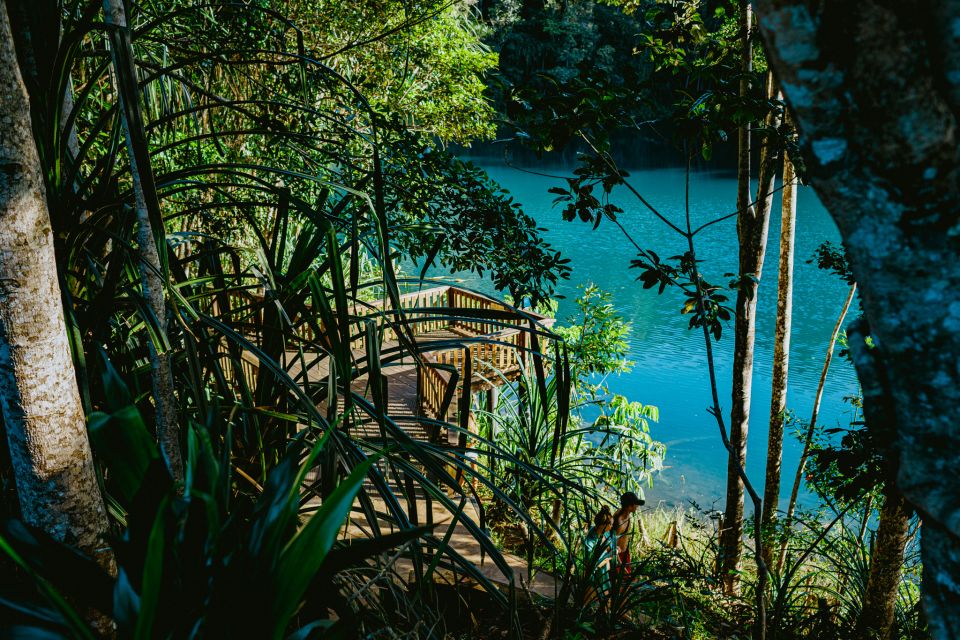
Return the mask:
{"type": "Polygon", "coordinates": [[[285,3],[318,60],[349,80],[379,113],[412,131],[469,143],[494,133],[483,99],[497,54],[460,3],[360,0],[285,3]]]}

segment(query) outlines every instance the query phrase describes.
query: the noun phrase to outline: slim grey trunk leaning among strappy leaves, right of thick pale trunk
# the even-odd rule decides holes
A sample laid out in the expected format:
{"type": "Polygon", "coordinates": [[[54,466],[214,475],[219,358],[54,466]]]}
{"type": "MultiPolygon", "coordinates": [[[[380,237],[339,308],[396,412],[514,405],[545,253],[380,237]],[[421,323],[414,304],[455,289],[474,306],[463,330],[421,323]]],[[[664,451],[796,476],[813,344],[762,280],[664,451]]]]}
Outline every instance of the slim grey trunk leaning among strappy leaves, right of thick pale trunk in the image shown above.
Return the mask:
{"type": "MultiPolygon", "coordinates": [[[[140,275],[143,297],[157,320],[160,334],[167,335],[167,306],[164,301],[163,270],[157,242],[162,238],[154,229],[153,220],[160,221],[160,212],[151,216],[150,203],[147,200],[146,187],[149,184],[153,192],[153,170],[147,154],[146,137],[143,133],[143,120],[140,105],[128,96],[137,95],[135,84],[122,86],[123,82],[133,83],[137,78],[133,64],[133,47],[127,31],[127,19],[124,14],[123,0],[103,0],[106,23],[116,27],[110,40],[113,55],[114,77],[117,79],[117,97],[122,107],[122,122],[127,142],[127,155],[130,159],[130,174],[133,178],[134,204],[137,212],[137,246],[139,248],[140,275]]],[[[162,224],[162,222],[160,222],[162,224]]],[[[168,349],[159,350],[153,341],[147,338],[150,352],[150,381],[153,387],[153,399],[156,411],[157,441],[170,473],[177,482],[183,480],[183,459],[180,450],[180,426],[177,419],[177,397],[173,382],[171,354],[168,349]]]]}

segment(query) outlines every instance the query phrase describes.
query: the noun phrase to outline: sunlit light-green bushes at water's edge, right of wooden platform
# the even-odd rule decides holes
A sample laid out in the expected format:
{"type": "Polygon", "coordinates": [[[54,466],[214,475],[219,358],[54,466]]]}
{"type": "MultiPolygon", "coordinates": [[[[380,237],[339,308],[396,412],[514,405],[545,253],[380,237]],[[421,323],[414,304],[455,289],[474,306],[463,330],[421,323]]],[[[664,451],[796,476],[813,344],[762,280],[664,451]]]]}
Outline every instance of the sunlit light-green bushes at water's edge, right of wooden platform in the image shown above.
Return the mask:
{"type": "MultiPolygon", "coordinates": [[[[494,449],[480,448],[488,454],[481,459],[495,486],[539,516],[542,528],[574,536],[568,542],[574,547],[599,504],[614,502],[623,491],[643,495],[666,450],[650,432],[650,423],[660,419],[657,407],[611,394],[604,384],[607,376],[632,366],[624,358],[630,327],[609,299],[594,285],[584,287],[577,316],[556,328],[566,343],[556,360],[567,372],[557,372],[546,384],[534,375],[523,377],[515,388],[503,388],[496,406],[478,412],[479,434],[517,458],[499,459],[494,449]],[[526,476],[523,465],[543,473],[526,476]],[[557,487],[554,478],[571,483],[557,487]]],[[[494,496],[494,513],[503,507],[494,496]]],[[[495,530],[504,536],[523,529],[513,518],[494,519],[495,530]]],[[[530,532],[521,538],[531,552],[530,532]]],[[[556,563],[556,551],[545,551],[540,559],[556,563]]]]}

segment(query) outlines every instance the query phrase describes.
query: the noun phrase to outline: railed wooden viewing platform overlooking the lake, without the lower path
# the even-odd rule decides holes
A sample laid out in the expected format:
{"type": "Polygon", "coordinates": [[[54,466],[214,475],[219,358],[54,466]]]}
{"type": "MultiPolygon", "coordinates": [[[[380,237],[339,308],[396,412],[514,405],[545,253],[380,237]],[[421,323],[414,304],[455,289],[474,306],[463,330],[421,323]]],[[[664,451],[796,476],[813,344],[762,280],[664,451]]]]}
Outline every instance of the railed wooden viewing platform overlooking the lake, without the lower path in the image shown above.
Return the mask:
{"type": "MultiPolygon", "coordinates": [[[[244,294],[232,301],[234,309],[249,305],[244,294]]],[[[262,301],[262,298],[258,302],[262,301]]],[[[348,316],[352,376],[351,388],[372,398],[370,370],[379,368],[386,379],[387,415],[395,419],[427,418],[431,421],[457,419],[457,399],[469,378],[470,393],[490,391],[517,379],[525,354],[532,348],[531,333],[549,330],[554,323],[530,310],[518,311],[489,296],[455,286],[439,286],[399,296],[402,319],[396,319],[389,301],[354,304],[348,316]],[[370,331],[365,321],[377,327],[378,343],[368,344],[370,331]],[[404,332],[403,338],[398,331],[404,332]],[[380,356],[374,365],[371,353],[380,356]]],[[[296,321],[293,322],[296,325],[296,321]]],[[[299,344],[286,345],[280,364],[301,384],[325,384],[330,376],[331,358],[322,345],[329,344],[322,324],[301,322],[295,327],[299,344]],[[297,347],[294,350],[293,347],[297,347]]],[[[262,338],[251,336],[260,343],[262,338]]],[[[248,383],[253,386],[260,361],[244,354],[248,383]]],[[[325,402],[319,403],[325,408],[325,402]]],[[[421,427],[422,428],[422,427],[421,427]]],[[[422,438],[416,426],[411,435],[422,438]]],[[[434,438],[442,434],[434,434],[434,438]]]]}

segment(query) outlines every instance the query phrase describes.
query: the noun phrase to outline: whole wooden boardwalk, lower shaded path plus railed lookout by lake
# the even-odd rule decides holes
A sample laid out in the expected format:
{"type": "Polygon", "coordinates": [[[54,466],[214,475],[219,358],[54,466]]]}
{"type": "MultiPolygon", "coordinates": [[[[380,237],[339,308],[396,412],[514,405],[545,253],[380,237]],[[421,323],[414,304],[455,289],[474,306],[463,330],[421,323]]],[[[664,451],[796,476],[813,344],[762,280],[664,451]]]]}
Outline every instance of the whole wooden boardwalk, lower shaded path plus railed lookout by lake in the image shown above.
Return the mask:
{"type": "MultiPolygon", "coordinates": [[[[502,303],[454,287],[438,287],[401,297],[401,304],[405,310],[412,311],[419,308],[439,308],[441,305],[448,308],[450,315],[461,319],[438,322],[430,321],[414,325],[414,339],[420,354],[420,362],[401,348],[396,334],[387,329],[382,332],[382,340],[378,351],[385,355],[382,364],[382,374],[386,382],[387,406],[385,413],[414,440],[431,441],[435,445],[458,445],[460,434],[456,430],[446,433],[437,433],[432,426],[437,420],[455,421],[458,398],[463,394],[490,390],[505,381],[515,379],[522,369],[526,328],[521,324],[530,322],[533,318],[540,328],[548,328],[552,320],[527,314],[526,317],[517,315],[514,326],[504,321],[490,321],[483,318],[475,320],[469,317],[471,310],[510,311],[502,303]],[[481,340],[482,339],[482,340],[481,340]],[[491,342],[492,341],[492,342],[491,342]],[[402,357],[400,357],[402,356],[402,357]],[[470,388],[464,389],[465,369],[469,369],[470,388]],[[453,375],[456,371],[456,375],[453,375]],[[424,419],[428,419],[431,427],[428,428],[424,419]],[[431,437],[432,435],[432,437],[431,437]]],[[[373,313],[382,312],[382,303],[365,305],[364,311],[373,313]]],[[[355,310],[356,311],[356,310],[355,310]]],[[[306,336],[313,340],[314,336],[306,336]]],[[[367,369],[367,345],[361,335],[351,343],[354,366],[367,369]]],[[[249,358],[252,359],[252,356],[249,358]]],[[[325,385],[330,375],[330,360],[316,352],[287,351],[281,366],[290,377],[301,385],[319,388],[325,385]]],[[[255,360],[250,362],[250,377],[255,377],[255,360]]],[[[351,390],[373,401],[370,390],[370,376],[368,373],[356,376],[351,380],[351,390]]],[[[326,410],[326,403],[322,401],[318,408],[326,410]]],[[[472,424],[472,415],[468,416],[468,424],[472,424]]],[[[376,443],[383,440],[380,426],[372,419],[364,419],[351,423],[350,436],[358,440],[376,443]]],[[[400,480],[402,482],[402,479],[400,480]]],[[[462,503],[462,512],[457,522],[454,522],[455,510],[445,506],[440,500],[427,500],[421,495],[412,503],[405,500],[403,487],[398,486],[396,479],[389,480],[389,485],[400,499],[407,504],[406,518],[411,522],[432,523],[433,535],[442,540],[449,534],[449,546],[453,552],[466,562],[473,564],[480,573],[494,584],[504,587],[511,581],[517,589],[528,590],[547,597],[555,597],[556,584],[551,576],[539,573],[531,580],[527,572],[526,562],[515,556],[503,554],[509,567],[507,575],[494,563],[488,554],[484,554],[480,543],[462,523],[469,520],[479,523],[480,517],[473,497],[467,497],[462,503]],[[416,509],[413,513],[411,509],[416,509]],[[429,513],[428,513],[429,510],[429,513]],[[450,528],[453,531],[450,531],[450,528]]],[[[390,515],[389,509],[382,498],[376,497],[377,492],[370,486],[374,512],[377,514],[377,528],[381,531],[396,530],[396,519],[390,515]]],[[[454,489],[447,488],[447,496],[455,503],[461,502],[461,494],[454,495],[454,489]]],[[[465,494],[464,494],[465,495],[465,494]]],[[[307,511],[319,506],[318,500],[305,505],[307,511]],[[315,504],[316,503],[316,504],[315,504]]],[[[368,538],[373,534],[372,523],[367,521],[363,510],[354,504],[349,523],[344,527],[342,535],[346,538],[368,538]]],[[[403,562],[403,561],[401,561],[403,562]]],[[[404,564],[400,568],[410,568],[404,564]]],[[[454,577],[457,581],[459,578],[454,577]]]]}

